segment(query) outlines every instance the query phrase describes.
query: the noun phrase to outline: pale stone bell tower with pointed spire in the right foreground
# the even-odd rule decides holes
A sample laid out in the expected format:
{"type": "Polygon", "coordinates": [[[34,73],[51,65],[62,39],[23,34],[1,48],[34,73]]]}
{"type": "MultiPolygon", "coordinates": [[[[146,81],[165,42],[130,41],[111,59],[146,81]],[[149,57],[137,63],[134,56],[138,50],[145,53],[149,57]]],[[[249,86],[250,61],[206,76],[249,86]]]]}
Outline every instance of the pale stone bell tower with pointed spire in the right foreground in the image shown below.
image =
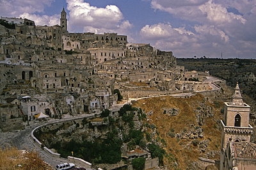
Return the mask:
{"type": "Polygon", "coordinates": [[[224,169],[224,157],[227,141],[232,138],[234,142],[250,142],[253,127],[249,124],[250,105],[243,102],[238,83],[231,102],[225,102],[224,121],[221,120],[221,155],[220,169],[224,169]]]}

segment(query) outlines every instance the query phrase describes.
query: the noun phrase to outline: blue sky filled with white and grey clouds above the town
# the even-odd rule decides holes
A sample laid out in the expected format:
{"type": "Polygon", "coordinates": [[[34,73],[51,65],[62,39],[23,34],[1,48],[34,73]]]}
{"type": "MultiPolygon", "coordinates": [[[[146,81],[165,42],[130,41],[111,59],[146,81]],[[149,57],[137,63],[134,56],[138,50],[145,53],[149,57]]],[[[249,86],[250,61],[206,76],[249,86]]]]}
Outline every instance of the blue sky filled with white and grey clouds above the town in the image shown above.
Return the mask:
{"type": "Polygon", "coordinates": [[[118,33],[177,58],[256,59],[256,0],[0,0],[2,17],[69,32],[118,33]]]}

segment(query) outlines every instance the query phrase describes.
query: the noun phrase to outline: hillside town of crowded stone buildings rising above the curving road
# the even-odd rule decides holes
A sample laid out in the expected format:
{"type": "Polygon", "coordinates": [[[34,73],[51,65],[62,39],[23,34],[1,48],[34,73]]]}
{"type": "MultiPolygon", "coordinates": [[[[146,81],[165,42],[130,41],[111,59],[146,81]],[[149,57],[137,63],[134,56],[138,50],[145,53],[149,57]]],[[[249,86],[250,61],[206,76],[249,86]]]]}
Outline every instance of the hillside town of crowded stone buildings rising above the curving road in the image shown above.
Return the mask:
{"type": "Polygon", "coordinates": [[[116,33],[68,33],[64,8],[60,26],[4,17],[1,23],[13,26],[0,25],[1,104],[15,108],[1,110],[6,120],[101,112],[117,103],[115,89],[124,98],[212,89],[208,72],[186,72],[171,51],[116,33]]]}

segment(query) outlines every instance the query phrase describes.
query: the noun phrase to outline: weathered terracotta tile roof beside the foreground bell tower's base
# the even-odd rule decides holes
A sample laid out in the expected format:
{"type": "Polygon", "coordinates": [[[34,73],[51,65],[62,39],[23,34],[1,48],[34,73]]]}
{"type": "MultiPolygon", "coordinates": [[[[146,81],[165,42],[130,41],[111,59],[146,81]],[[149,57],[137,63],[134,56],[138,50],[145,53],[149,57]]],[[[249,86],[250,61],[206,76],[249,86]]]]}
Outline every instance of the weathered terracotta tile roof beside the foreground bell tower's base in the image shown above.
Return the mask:
{"type": "Polygon", "coordinates": [[[254,143],[234,143],[236,158],[256,159],[256,144],[254,143]]]}

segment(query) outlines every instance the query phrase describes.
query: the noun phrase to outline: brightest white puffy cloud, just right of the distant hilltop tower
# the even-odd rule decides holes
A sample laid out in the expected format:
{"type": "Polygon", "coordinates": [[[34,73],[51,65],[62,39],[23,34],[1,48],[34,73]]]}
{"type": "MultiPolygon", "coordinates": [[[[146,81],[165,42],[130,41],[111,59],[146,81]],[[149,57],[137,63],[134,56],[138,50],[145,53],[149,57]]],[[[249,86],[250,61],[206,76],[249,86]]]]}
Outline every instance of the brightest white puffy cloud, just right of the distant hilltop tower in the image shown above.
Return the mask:
{"type": "Polygon", "coordinates": [[[84,32],[125,32],[132,27],[120,9],[115,5],[107,5],[105,8],[91,6],[83,0],[67,1],[69,10],[69,26],[81,26],[84,32]]]}

